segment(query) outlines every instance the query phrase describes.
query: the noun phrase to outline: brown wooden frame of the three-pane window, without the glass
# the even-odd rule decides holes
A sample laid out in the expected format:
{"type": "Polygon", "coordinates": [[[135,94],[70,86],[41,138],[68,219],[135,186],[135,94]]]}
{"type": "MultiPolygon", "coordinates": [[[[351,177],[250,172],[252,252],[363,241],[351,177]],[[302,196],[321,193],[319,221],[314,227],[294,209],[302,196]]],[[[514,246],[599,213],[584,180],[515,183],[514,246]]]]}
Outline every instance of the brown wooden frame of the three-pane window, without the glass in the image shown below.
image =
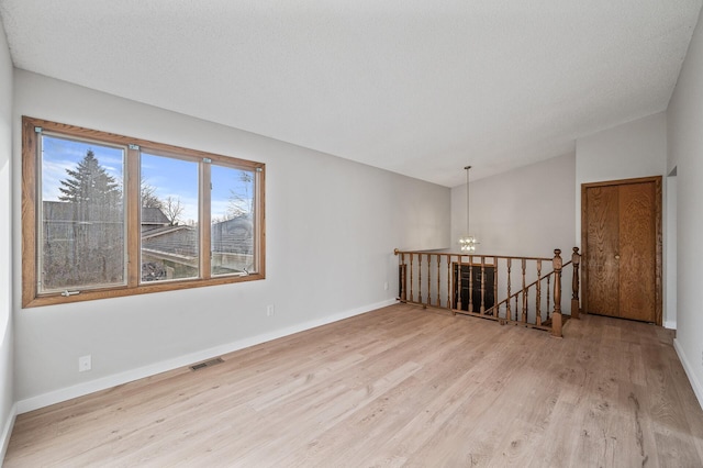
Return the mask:
{"type": "MultiPolygon", "coordinates": [[[[33,308],[70,302],[91,301],[97,299],[119,298],[152,292],[176,291],[189,288],[227,285],[254,281],[266,278],[266,230],[265,230],[265,181],[266,165],[263,163],[239,159],[188,149],[141,138],[83,129],[30,116],[22,118],[22,307],[33,308]],[[46,130],[52,134],[65,135],[68,138],[94,141],[97,143],[126,146],[124,203],[126,207],[126,285],[81,290],[80,293],[62,296],[60,292],[40,293],[37,288],[37,203],[42,198],[37,180],[41,164],[37,152],[40,133],[35,129],[46,130]],[[200,277],[196,279],[168,280],[164,282],[141,283],[141,225],[140,225],[140,148],[155,152],[158,155],[200,161],[199,181],[199,233],[200,233],[200,277]],[[255,272],[246,275],[211,276],[211,238],[210,238],[210,191],[205,190],[209,181],[210,164],[252,170],[256,175],[255,182],[255,238],[254,255],[257,266],[255,272]]],[[[208,186],[209,187],[209,186],[208,186]]]]}

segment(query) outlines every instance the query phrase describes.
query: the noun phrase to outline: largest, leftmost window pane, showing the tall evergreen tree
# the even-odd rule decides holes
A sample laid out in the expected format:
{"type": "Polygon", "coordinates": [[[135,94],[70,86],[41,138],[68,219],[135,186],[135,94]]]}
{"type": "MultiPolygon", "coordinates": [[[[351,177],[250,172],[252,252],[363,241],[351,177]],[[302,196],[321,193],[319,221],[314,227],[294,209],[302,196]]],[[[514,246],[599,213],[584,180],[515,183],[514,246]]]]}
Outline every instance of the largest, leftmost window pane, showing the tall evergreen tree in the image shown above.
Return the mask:
{"type": "Polygon", "coordinates": [[[124,285],[124,148],[41,141],[38,291],[124,285]]]}

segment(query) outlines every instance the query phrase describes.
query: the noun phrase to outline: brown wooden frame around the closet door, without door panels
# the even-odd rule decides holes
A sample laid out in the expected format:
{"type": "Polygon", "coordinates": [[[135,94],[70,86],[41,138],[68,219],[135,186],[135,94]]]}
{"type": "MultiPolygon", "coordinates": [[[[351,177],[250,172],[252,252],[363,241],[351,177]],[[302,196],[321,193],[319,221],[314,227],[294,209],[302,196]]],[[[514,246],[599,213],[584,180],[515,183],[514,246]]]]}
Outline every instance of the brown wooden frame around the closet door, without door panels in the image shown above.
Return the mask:
{"type": "Polygon", "coordinates": [[[606,180],[602,182],[581,183],[581,298],[583,312],[588,311],[589,287],[588,278],[588,197],[585,191],[595,187],[625,186],[631,183],[655,183],[655,323],[661,325],[662,316],[662,233],[661,233],[661,205],[662,205],[662,176],[638,177],[635,179],[606,180]]]}

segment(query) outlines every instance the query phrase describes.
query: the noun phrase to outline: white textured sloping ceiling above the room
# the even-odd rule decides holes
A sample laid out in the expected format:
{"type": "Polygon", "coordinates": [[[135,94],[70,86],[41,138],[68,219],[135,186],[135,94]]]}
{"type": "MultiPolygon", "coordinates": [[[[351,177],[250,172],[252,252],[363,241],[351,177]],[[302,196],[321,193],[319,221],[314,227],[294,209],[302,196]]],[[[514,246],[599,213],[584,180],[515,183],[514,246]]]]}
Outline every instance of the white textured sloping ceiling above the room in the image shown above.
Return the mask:
{"type": "Polygon", "coordinates": [[[667,108],[702,0],[0,0],[19,68],[433,181],[667,108]]]}

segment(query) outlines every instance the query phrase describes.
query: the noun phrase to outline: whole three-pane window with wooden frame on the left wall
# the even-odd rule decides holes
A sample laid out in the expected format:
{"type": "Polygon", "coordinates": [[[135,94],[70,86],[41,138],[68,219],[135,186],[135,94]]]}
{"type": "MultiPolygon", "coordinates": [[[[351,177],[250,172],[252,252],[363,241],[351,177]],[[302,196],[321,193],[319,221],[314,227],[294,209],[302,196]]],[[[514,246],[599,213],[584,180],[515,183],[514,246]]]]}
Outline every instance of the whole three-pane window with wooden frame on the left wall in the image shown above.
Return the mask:
{"type": "Polygon", "coordinates": [[[23,307],[265,278],[264,164],[31,118],[22,158],[23,307]]]}

